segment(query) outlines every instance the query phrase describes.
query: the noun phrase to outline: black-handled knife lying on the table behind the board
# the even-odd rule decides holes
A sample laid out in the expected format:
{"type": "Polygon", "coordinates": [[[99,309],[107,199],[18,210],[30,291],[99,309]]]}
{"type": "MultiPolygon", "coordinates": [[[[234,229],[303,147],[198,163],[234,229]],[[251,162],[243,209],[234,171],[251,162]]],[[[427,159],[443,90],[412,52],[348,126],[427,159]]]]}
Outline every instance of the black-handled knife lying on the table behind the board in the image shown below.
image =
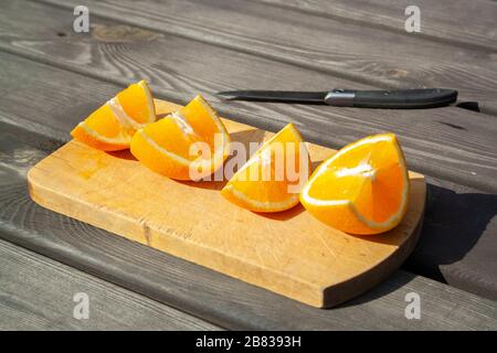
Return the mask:
{"type": "Polygon", "coordinates": [[[327,104],[335,107],[422,109],[455,103],[457,90],[444,88],[329,92],[225,90],[215,95],[230,100],[327,104]]]}

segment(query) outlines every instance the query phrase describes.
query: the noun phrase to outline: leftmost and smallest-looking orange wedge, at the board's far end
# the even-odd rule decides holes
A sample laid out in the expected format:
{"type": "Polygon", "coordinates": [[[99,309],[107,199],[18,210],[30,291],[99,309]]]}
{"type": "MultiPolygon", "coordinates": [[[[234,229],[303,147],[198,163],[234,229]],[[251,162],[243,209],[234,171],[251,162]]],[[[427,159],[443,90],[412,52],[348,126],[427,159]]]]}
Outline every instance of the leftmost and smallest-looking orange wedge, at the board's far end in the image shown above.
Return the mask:
{"type": "Polygon", "coordinates": [[[154,98],[147,83],[140,81],[92,113],[71,135],[96,149],[117,151],[129,148],[136,130],[154,121],[154,98]]]}

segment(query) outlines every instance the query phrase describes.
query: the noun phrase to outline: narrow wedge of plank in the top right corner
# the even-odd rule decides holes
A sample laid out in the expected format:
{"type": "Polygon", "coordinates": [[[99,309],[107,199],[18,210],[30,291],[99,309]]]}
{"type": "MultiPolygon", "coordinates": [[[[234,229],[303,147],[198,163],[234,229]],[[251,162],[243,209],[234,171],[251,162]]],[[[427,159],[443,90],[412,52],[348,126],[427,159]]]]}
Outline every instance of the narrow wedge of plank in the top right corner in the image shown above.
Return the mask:
{"type": "Polygon", "coordinates": [[[427,40],[454,43],[478,50],[497,49],[497,3],[488,0],[258,0],[330,19],[359,22],[405,33],[404,14],[409,6],[421,11],[421,35],[427,40]]]}

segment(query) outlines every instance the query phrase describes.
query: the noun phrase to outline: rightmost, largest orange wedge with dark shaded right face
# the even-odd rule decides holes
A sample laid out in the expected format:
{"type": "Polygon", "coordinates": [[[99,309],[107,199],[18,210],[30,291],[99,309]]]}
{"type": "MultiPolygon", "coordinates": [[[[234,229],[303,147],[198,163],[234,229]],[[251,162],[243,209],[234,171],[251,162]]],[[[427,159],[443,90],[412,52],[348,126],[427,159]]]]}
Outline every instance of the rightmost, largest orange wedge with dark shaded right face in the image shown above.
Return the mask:
{"type": "Polygon", "coordinates": [[[324,223],[351,234],[378,234],[399,224],[408,210],[409,176],[393,133],[350,143],[322,162],[300,202],[324,223]]]}

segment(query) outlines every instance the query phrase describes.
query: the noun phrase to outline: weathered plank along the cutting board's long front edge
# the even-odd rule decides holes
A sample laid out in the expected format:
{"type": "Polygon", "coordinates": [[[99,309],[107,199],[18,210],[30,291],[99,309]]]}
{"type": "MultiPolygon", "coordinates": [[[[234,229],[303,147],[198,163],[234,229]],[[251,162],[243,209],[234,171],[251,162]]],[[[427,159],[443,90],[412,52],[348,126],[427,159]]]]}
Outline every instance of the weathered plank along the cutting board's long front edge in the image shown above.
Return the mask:
{"type": "Polygon", "coordinates": [[[46,137],[0,125],[0,236],[22,247],[230,329],[497,329],[495,301],[402,270],[345,306],[315,309],[50,212],[30,201],[25,181],[50,152],[46,137]],[[421,320],[404,317],[412,291],[421,320]]]}

